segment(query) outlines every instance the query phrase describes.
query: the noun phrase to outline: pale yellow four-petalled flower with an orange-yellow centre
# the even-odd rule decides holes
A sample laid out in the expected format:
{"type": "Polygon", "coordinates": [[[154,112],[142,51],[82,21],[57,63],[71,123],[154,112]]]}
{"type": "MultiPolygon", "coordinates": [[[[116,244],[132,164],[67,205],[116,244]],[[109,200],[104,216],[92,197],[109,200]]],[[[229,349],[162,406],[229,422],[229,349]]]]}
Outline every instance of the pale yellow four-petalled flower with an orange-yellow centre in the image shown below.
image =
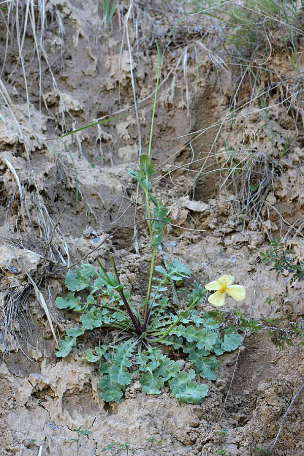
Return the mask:
{"type": "Polygon", "coordinates": [[[205,288],[207,290],[215,291],[208,297],[208,301],[214,306],[223,306],[225,301],[225,291],[230,294],[236,301],[245,299],[245,288],[242,285],[231,285],[234,281],[233,276],[221,276],[214,282],[207,283],[205,288]]]}

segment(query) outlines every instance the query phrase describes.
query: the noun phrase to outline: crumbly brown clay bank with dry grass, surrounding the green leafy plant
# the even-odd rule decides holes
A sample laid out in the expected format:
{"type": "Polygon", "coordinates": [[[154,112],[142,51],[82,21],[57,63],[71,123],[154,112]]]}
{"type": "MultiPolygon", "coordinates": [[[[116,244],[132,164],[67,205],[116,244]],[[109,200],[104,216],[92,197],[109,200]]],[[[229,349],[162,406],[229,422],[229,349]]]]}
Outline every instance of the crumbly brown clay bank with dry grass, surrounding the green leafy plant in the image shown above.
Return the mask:
{"type": "MultiPolygon", "coordinates": [[[[136,456],[302,456],[304,391],[291,401],[304,381],[303,339],[291,330],[304,318],[303,288],[289,285],[289,272],[277,280],[259,255],[278,236],[304,256],[301,11],[293,48],[282,15],[244,44],[244,35],[227,41],[232,28],[224,36],[219,13],[185,15],[195,7],[175,1],[119,1],[108,29],[99,0],[3,5],[0,455],[75,456],[82,426],[92,432],[82,456],[110,454],[102,449],[111,442],[131,442],[136,456]],[[67,268],[97,256],[110,268],[112,252],[135,301],[146,293],[147,226],[134,225],[145,208],[127,168],[147,152],[156,39],[153,192],[174,224],[157,264],[184,262],[189,288],[233,275],[246,288],[238,310],[281,322],[293,344],[280,350],[282,332],[265,326],[247,332],[240,350],[219,357],[200,405],[180,406],[169,388],[147,396],[136,375],[124,402],[104,402],[98,367],[83,360],[98,332],[56,357],[55,336],[78,323],[55,304],[67,268]]],[[[223,312],[235,304],[227,298],[223,312]]],[[[206,301],[204,310],[214,308],[206,301]]]]}

